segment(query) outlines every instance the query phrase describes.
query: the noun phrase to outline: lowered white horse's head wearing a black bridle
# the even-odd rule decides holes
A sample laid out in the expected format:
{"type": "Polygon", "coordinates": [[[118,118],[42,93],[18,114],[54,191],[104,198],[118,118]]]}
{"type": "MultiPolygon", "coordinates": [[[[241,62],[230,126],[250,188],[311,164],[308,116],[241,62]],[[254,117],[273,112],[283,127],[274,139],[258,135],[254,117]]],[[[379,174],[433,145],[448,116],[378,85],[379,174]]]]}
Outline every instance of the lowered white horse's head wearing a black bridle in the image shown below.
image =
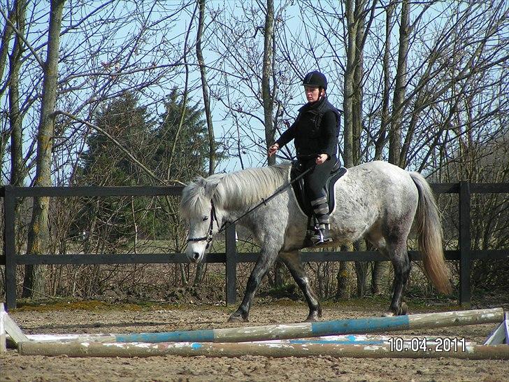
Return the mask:
{"type": "Polygon", "coordinates": [[[222,216],[217,212],[213,194],[217,181],[198,178],[182,192],[180,213],[189,222],[186,255],[192,262],[201,262],[208,252],[213,236],[222,225],[222,216]]]}

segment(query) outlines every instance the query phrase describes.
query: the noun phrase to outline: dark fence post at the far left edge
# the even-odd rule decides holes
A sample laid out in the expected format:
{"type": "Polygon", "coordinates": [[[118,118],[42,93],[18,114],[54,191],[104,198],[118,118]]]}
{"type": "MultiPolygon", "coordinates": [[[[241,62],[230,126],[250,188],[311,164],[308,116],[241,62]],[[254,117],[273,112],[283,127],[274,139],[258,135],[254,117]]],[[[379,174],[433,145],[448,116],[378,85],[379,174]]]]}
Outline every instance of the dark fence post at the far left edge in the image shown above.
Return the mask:
{"type": "Polygon", "coordinates": [[[13,186],[4,186],[3,197],[3,253],[6,256],[6,306],[16,308],[16,247],[15,247],[15,206],[13,186]]]}

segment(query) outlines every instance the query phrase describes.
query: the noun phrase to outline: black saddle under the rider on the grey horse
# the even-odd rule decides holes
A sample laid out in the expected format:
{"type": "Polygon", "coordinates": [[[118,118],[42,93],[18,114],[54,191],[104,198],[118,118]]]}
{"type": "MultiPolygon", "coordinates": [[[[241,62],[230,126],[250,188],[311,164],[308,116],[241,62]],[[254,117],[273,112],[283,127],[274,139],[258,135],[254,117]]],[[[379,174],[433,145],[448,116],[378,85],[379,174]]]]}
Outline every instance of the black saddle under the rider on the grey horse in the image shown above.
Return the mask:
{"type": "MultiPolygon", "coordinates": [[[[292,169],[290,170],[290,181],[293,181],[297,176],[303,173],[305,169],[301,162],[294,161],[292,162],[292,169]]],[[[336,161],[334,167],[331,170],[331,174],[329,178],[327,178],[327,182],[325,183],[324,191],[327,197],[327,203],[329,204],[329,213],[334,211],[334,206],[336,205],[336,198],[334,197],[334,184],[338,179],[346,174],[347,169],[345,167],[341,167],[339,161],[336,161]]],[[[306,213],[308,217],[313,217],[313,208],[311,207],[311,201],[306,195],[306,191],[304,188],[304,178],[300,178],[299,181],[292,183],[292,188],[294,189],[295,198],[301,207],[303,213],[306,213]]]]}

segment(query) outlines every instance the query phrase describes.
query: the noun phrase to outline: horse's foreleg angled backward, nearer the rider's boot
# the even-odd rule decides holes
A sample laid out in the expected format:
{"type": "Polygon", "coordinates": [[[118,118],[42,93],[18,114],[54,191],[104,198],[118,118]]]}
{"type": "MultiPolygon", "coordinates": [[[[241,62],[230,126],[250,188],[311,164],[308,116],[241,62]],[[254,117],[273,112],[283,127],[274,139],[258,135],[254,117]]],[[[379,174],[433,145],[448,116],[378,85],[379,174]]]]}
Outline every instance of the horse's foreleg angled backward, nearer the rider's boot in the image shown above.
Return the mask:
{"type": "Polygon", "coordinates": [[[322,306],[320,306],[315,292],[313,292],[309,285],[309,279],[301,261],[301,254],[299,252],[280,253],[280,259],[288,267],[292,277],[297,285],[299,285],[299,288],[301,288],[304,297],[306,297],[309,306],[309,314],[306,321],[317,321],[318,318],[322,317],[322,306]]]}

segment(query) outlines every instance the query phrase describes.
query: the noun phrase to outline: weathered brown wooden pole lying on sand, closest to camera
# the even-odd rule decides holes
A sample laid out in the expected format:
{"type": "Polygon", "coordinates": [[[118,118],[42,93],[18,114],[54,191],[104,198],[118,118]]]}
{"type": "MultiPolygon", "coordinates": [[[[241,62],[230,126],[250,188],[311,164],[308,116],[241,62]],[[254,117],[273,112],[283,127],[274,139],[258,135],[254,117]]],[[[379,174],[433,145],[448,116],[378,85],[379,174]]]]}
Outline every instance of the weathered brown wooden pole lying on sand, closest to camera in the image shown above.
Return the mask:
{"type": "MultiPolygon", "coordinates": [[[[442,349],[443,350],[443,349],[442,349]]],[[[465,348],[436,351],[434,346],[426,350],[402,349],[393,351],[389,344],[231,344],[231,343],[159,343],[159,344],[105,344],[22,342],[18,344],[22,355],[45,355],[68,357],[150,357],[155,355],[180,355],[207,357],[241,357],[261,355],[264,357],[324,356],[351,358],[468,358],[471,360],[509,360],[509,346],[469,345],[465,348]]]]}

